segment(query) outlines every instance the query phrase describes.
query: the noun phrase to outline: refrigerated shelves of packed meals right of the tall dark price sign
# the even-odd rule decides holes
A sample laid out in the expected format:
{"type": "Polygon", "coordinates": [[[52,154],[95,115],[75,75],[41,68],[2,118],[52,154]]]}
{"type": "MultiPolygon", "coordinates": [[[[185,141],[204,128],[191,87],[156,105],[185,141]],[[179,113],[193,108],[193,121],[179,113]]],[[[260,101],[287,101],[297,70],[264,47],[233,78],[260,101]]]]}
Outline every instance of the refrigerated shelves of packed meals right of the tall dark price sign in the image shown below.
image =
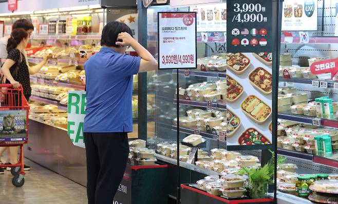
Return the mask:
{"type": "MultiPolygon", "coordinates": [[[[335,132],[338,126],[336,110],[333,110],[335,104],[331,105],[333,114],[329,113],[327,116],[323,115],[319,107],[322,103],[320,97],[329,96],[329,101],[337,100],[334,88],[336,81],[332,80],[330,74],[314,75],[309,68],[316,61],[336,58],[336,2],[315,2],[318,13],[315,31],[281,31],[278,92],[283,95],[278,95],[277,152],[278,155],[287,157],[287,163],[297,166],[294,170],[296,174],[336,174],[338,152],[335,150],[335,132]],[[301,94],[286,95],[294,92],[301,94]],[[291,99],[289,96],[293,97],[295,102],[288,103],[291,99]],[[316,144],[323,144],[320,142],[322,136],[328,136],[325,141],[322,140],[326,145],[325,150],[316,147],[316,144]]],[[[283,9],[282,3],[280,8],[283,9]]],[[[283,11],[280,10],[281,13],[283,11]]],[[[281,18],[281,15],[279,17],[281,18]]],[[[330,110],[329,104],[327,105],[330,110]]],[[[280,174],[277,173],[277,177],[280,177],[280,174]]],[[[313,203],[309,200],[312,198],[308,199],[308,196],[299,197],[296,190],[285,190],[285,180],[282,178],[281,181],[283,182],[277,184],[280,191],[277,196],[278,203],[313,203]]]]}

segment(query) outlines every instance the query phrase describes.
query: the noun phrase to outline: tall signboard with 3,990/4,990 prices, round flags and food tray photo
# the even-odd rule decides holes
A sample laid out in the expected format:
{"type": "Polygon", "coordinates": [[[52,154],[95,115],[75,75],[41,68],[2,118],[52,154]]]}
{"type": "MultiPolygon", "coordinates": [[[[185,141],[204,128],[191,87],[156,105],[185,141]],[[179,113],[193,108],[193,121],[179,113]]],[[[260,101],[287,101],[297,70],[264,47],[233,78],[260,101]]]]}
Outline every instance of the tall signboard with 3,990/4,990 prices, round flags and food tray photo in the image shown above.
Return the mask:
{"type": "Polygon", "coordinates": [[[227,4],[227,149],[265,149],[273,142],[272,1],[227,4]]]}

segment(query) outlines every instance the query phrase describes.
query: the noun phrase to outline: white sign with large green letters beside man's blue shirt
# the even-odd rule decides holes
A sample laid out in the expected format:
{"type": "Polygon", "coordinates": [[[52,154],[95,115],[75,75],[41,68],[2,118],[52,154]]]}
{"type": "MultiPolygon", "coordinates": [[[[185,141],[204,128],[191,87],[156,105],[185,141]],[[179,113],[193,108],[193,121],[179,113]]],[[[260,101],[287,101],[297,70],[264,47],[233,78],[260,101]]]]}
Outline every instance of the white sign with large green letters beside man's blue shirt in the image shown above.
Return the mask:
{"type": "Polygon", "coordinates": [[[74,145],[85,147],[83,122],[86,115],[86,92],[68,92],[68,136],[74,145]]]}

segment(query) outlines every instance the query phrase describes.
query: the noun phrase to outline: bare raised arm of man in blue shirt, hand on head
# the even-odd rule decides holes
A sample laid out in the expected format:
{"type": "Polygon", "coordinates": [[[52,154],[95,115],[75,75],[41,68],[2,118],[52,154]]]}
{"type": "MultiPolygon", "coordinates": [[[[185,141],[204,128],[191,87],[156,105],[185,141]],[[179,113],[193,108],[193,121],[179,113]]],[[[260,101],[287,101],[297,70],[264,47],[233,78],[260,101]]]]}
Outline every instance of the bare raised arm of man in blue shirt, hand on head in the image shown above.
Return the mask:
{"type": "Polygon", "coordinates": [[[156,59],[141,44],[139,44],[129,33],[124,32],[118,35],[117,40],[122,39],[123,42],[116,42],[116,45],[132,46],[132,48],[141,57],[139,72],[148,72],[156,70],[158,65],[156,59]]]}

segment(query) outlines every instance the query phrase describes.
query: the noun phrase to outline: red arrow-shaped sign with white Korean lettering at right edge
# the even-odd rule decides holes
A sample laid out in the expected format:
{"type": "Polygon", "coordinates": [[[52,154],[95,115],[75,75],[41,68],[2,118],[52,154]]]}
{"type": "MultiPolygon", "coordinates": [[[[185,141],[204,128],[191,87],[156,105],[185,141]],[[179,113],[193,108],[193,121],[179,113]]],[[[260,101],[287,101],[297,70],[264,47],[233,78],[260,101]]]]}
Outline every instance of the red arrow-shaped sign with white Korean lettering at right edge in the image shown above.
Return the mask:
{"type": "Polygon", "coordinates": [[[331,73],[332,78],[338,71],[338,58],[314,62],[310,67],[310,71],[312,74],[331,73]]]}

